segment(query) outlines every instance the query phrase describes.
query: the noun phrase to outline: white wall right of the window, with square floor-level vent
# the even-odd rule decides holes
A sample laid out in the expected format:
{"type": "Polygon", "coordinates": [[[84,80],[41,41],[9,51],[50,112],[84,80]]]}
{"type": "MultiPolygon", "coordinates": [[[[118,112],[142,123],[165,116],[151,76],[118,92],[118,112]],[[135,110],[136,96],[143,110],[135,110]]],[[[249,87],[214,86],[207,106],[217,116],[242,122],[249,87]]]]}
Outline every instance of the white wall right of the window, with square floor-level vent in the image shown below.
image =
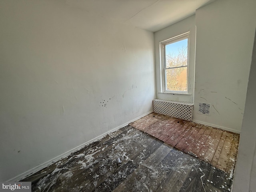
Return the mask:
{"type": "Polygon", "coordinates": [[[194,121],[240,132],[254,30],[255,0],[216,0],[196,10],[194,121]],[[198,102],[211,103],[210,116],[198,102]]]}

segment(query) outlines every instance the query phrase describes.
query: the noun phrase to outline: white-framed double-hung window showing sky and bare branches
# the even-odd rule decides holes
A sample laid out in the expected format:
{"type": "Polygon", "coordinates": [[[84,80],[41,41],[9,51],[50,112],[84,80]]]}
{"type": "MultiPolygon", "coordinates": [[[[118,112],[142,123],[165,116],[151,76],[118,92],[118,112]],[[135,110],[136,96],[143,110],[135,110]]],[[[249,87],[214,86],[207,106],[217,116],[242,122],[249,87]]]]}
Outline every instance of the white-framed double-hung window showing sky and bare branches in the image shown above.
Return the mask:
{"type": "Polygon", "coordinates": [[[188,93],[189,32],[160,42],[162,92],[188,93]]]}

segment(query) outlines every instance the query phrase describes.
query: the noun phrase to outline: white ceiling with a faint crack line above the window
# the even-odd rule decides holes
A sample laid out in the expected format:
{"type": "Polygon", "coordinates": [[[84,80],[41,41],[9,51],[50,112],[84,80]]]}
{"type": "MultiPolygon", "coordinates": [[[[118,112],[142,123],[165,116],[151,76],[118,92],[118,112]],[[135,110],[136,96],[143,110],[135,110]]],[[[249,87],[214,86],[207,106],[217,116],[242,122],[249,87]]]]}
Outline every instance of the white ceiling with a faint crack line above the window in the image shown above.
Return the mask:
{"type": "Polygon", "coordinates": [[[86,12],[156,32],[214,0],[65,0],[86,12]]]}

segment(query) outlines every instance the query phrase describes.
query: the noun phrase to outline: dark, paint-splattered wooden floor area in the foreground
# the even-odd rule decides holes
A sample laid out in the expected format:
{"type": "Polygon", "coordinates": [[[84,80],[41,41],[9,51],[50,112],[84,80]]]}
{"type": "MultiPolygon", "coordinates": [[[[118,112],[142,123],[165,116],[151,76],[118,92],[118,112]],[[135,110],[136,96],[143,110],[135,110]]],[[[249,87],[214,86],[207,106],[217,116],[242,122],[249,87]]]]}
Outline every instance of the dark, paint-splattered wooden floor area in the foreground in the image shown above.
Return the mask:
{"type": "Polygon", "coordinates": [[[126,126],[22,181],[35,192],[229,192],[232,175],[126,126]]]}

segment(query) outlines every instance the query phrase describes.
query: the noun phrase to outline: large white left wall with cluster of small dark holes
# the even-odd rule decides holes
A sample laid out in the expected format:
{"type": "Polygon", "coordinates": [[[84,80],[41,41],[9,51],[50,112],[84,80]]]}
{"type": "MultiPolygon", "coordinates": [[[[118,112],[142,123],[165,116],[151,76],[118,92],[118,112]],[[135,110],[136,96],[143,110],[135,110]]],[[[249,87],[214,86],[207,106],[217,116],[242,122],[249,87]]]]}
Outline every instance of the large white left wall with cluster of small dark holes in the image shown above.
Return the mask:
{"type": "Polygon", "coordinates": [[[152,32],[58,1],[0,0],[0,180],[151,112],[154,76],[152,32]]]}

